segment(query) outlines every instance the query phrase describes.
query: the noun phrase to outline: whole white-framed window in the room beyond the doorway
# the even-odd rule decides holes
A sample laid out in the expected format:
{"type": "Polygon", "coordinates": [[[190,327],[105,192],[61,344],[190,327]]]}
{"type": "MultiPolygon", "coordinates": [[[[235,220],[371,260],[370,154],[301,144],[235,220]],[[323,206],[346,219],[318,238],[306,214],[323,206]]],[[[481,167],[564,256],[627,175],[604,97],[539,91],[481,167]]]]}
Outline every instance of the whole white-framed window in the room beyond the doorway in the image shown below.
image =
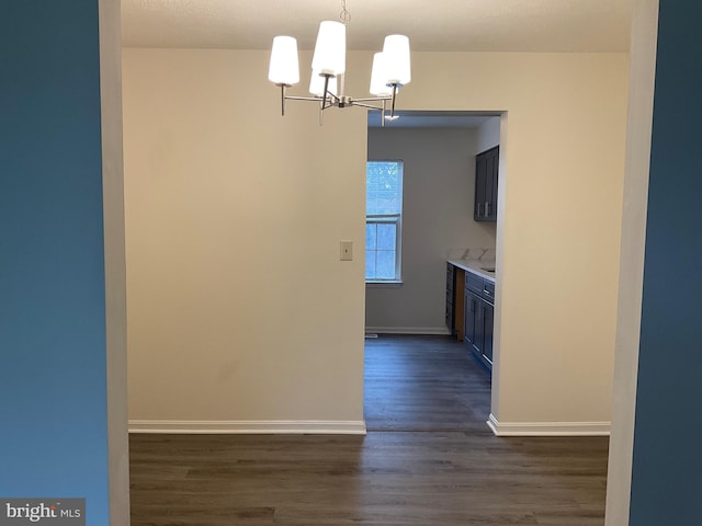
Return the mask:
{"type": "Polygon", "coordinates": [[[369,161],[365,186],[365,281],[399,282],[403,161],[369,161]]]}

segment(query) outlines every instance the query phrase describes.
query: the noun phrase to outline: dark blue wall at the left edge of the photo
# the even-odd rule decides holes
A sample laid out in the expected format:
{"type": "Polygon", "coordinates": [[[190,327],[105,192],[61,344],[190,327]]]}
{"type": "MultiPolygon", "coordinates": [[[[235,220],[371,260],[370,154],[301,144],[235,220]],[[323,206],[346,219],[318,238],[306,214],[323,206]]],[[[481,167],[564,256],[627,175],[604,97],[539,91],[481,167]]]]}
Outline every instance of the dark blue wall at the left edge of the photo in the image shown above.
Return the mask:
{"type": "Polygon", "coordinates": [[[107,524],[98,0],[0,3],[0,496],[107,524]]]}

